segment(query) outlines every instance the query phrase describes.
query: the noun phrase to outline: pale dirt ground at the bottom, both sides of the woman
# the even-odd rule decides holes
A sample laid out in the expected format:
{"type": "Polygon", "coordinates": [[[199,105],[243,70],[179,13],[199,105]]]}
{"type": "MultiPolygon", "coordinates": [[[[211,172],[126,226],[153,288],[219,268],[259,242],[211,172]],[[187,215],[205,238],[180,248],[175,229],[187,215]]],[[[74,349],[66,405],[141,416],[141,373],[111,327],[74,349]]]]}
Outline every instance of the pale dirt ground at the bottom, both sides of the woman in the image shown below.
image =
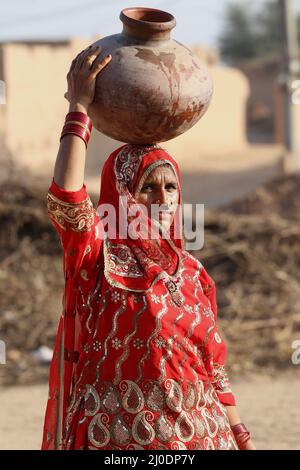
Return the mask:
{"type": "MultiPolygon", "coordinates": [[[[300,449],[300,366],[277,376],[231,382],[240,417],[258,450],[300,449]]],[[[40,449],[47,393],[46,384],[0,391],[1,450],[40,449]]]]}

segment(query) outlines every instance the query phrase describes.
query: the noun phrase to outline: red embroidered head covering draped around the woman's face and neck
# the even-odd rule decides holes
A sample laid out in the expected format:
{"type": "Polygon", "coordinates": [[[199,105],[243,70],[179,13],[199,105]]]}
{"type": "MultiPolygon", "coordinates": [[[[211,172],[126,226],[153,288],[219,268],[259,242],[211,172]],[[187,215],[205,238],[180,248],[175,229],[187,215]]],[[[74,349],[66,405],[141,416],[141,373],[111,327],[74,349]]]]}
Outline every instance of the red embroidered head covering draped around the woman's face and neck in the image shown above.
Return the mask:
{"type": "Polygon", "coordinates": [[[116,211],[115,233],[108,233],[103,247],[105,277],[111,285],[140,292],[149,289],[157,277],[175,273],[183,244],[180,203],[178,165],[165,149],[157,144],[125,144],[110,155],[102,171],[98,211],[101,213],[109,204],[116,211]],[[169,234],[142,210],[138,211],[141,229],[124,232],[120,216],[123,215],[127,227],[132,223],[128,214],[133,207],[134,212],[139,207],[135,193],[155,168],[166,164],[173,169],[179,189],[179,203],[169,234]],[[149,236],[145,237],[145,233],[149,236]]]}

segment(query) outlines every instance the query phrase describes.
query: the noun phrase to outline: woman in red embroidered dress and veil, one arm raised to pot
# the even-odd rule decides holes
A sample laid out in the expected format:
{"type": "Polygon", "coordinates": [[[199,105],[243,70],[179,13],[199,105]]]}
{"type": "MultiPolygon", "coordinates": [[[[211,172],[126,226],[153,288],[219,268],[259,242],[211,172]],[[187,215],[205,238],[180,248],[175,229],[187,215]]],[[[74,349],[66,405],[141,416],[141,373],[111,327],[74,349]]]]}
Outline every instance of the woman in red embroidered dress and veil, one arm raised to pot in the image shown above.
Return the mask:
{"type": "Polygon", "coordinates": [[[122,145],[104,165],[99,213],[89,199],[88,107],[111,60],[99,54],[88,48],[72,62],[70,109],[47,196],[65,294],[42,449],[254,449],[225,370],[215,284],[184,251],[180,230],[175,235],[176,162],[159,145],[122,145]],[[115,233],[105,235],[108,208],[115,233]]]}

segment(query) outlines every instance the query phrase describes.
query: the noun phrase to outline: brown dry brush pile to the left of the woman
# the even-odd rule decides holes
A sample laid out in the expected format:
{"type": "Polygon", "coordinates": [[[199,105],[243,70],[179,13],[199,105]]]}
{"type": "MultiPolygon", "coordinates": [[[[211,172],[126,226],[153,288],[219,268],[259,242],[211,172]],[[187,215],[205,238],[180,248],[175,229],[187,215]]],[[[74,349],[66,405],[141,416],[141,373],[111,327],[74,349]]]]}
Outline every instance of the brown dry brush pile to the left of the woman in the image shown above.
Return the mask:
{"type": "Polygon", "coordinates": [[[60,242],[39,182],[4,181],[0,201],[0,339],[6,346],[0,382],[33,383],[47,379],[45,347],[54,345],[61,313],[60,242]]]}

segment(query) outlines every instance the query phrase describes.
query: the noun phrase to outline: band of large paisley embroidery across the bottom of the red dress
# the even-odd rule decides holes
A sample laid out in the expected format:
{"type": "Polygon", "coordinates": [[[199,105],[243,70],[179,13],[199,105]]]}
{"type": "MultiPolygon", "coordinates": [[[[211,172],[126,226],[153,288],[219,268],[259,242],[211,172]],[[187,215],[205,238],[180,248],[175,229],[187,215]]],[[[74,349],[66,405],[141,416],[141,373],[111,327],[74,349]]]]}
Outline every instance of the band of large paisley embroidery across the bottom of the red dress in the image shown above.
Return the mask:
{"type": "Polygon", "coordinates": [[[237,449],[226,411],[209,381],[86,384],[73,399],[68,423],[77,422],[73,418],[78,409],[78,424],[65,429],[67,450],[73,449],[83,427],[88,440],[82,449],[237,449]]]}

